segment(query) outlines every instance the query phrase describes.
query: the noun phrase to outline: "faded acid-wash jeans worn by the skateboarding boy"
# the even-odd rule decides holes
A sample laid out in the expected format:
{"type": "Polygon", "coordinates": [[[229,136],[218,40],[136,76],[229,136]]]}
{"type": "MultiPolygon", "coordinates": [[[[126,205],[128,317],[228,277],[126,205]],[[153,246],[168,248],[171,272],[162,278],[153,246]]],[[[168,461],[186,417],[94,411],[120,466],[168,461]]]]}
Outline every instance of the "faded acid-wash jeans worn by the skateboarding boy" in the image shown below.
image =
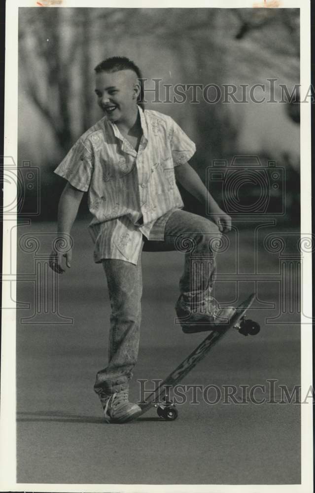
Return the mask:
{"type": "MultiPolygon", "coordinates": [[[[163,220],[163,218],[159,219],[163,220]]],[[[158,220],[158,221],[159,221],[158,220]]],[[[184,253],[184,271],[179,289],[187,301],[202,299],[210,292],[215,274],[215,242],[220,239],[217,226],[209,219],[176,210],[169,217],[164,241],[148,241],[143,237],[144,251],[184,253]]],[[[102,387],[114,393],[128,387],[137,362],[141,321],[141,254],[138,264],[104,259],[111,315],[108,364],[96,376],[95,390],[102,387]]]]}

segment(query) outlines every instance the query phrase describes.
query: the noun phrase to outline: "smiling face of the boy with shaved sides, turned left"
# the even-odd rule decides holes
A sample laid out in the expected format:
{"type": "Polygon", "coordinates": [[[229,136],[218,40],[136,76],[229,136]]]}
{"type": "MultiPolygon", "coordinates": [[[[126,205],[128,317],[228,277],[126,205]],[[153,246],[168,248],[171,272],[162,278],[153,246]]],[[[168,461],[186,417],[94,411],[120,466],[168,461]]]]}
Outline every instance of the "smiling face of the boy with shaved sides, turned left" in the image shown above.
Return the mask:
{"type": "Polygon", "coordinates": [[[100,72],[95,81],[98,105],[108,120],[119,123],[135,114],[140,86],[133,70],[100,72]]]}

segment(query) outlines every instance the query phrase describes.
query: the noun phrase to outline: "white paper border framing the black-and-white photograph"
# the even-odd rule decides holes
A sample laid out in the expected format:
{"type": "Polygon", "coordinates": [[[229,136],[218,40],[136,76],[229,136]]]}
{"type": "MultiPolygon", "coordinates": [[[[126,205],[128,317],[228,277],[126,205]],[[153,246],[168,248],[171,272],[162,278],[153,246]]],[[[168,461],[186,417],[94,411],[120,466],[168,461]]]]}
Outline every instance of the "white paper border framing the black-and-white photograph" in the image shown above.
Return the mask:
{"type": "MultiPolygon", "coordinates": [[[[224,0],[222,1],[166,1],[160,0],[158,7],[154,8],[188,8],[188,7],[220,7],[242,8],[253,6],[253,1],[224,0]]],[[[263,2],[262,2],[263,3],[263,2]]],[[[267,0],[268,3],[268,0],[267,0]]],[[[10,0],[6,2],[6,55],[5,55],[5,140],[4,156],[12,156],[17,163],[17,114],[18,114],[18,9],[20,7],[41,8],[36,1],[10,0]]],[[[71,1],[63,0],[58,7],[119,7],[153,8],[152,3],[142,1],[71,1]]],[[[310,1],[308,0],[282,0],[281,8],[300,8],[301,19],[301,92],[307,94],[311,85],[311,22],[310,1]]],[[[311,100],[301,105],[301,232],[312,233],[311,222],[311,100]]],[[[12,186],[4,186],[3,203],[11,203],[16,197],[16,189],[12,186]]],[[[11,249],[16,245],[16,217],[3,218],[3,268],[8,258],[12,265],[16,265],[16,250],[11,249]],[[9,231],[13,232],[9,235],[9,231]]],[[[312,306],[312,252],[305,252],[303,256],[302,280],[302,306],[312,306]]],[[[11,272],[16,276],[16,272],[11,272]]],[[[2,283],[2,303],[9,306],[10,282],[2,283]],[[5,304],[5,303],[8,304],[5,304]]],[[[303,313],[303,311],[302,311],[303,313]]],[[[160,492],[162,485],[60,485],[60,484],[17,484],[16,483],[16,401],[15,401],[15,346],[16,346],[16,312],[14,307],[2,311],[2,340],[1,340],[1,408],[0,408],[0,490],[1,491],[33,491],[33,492],[160,492]]],[[[302,315],[301,324],[301,393],[306,395],[312,385],[312,324],[302,315]],[[308,323],[307,323],[308,322],[308,323]]],[[[301,406],[302,425],[302,474],[301,485],[163,485],[164,492],[312,492],[313,491],[313,406],[312,402],[301,406]]]]}

